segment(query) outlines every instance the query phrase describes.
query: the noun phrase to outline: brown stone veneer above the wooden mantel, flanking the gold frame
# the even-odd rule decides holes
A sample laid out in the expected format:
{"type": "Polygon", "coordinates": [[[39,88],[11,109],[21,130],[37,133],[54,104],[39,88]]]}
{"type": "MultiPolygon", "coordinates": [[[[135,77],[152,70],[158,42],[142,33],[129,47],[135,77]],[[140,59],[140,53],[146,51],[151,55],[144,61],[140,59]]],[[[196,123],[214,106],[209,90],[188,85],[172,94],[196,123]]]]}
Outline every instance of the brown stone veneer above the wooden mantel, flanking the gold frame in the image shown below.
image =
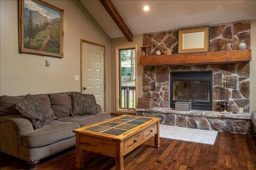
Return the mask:
{"type": "MultiPolygon", "coordinates": [[[[203,25],[205,26],[205,25],[203,25]]],[[[216,52],[220,50],[220,43],[227,42],[226,50],[237,50],[238,45],[243,40],[247,48],[250,49],[250,22],[234,22],[221,25],[209,26],[209,51],[216,52]]],[[[173,48],[172,53],[178,53],[179,29],[156,33],[144,33],[143,44],[151,45],[151,55],[155,50],[173,48]]]]}

